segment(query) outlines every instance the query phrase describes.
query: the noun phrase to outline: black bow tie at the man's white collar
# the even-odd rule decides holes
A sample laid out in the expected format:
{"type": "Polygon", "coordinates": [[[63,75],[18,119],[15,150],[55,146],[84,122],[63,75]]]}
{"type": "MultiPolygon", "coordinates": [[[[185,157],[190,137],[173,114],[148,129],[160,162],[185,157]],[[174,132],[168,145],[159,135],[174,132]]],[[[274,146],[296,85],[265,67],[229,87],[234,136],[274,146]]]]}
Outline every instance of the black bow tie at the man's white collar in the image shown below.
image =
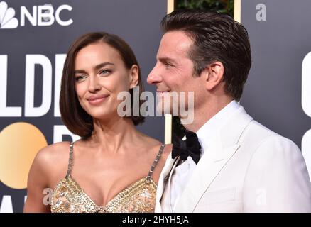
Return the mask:
{"type": "Polygon", "coordinates": [[[201,156],[201,145],[197,138],[197,134],[186,130],[185,136],[185,140],[178,138],[176,135],[173,136],[172,157],[180,156],[182,160],[187,160],[187,157],[190,156],[197,164],[201,156]]]}

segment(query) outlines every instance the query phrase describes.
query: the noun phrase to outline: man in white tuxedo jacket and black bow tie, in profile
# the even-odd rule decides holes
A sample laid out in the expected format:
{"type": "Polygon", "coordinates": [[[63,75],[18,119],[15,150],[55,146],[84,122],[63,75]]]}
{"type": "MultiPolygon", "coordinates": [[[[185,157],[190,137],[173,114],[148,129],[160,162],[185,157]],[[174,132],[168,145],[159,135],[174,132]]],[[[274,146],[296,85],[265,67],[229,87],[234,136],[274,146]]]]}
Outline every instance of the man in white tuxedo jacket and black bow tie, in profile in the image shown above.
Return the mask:
{"type": "Polygon", "coordinates": [[[310,212],[299,148],[238,103],[251,67],[245,28],[221,13],[189,10],[170,13],[161,26],[147,81],[159,96],[194,92],[194,121],[185,128],[196,133],[201,153],[198,162],[168,157],[155,212],[310,212]]]}

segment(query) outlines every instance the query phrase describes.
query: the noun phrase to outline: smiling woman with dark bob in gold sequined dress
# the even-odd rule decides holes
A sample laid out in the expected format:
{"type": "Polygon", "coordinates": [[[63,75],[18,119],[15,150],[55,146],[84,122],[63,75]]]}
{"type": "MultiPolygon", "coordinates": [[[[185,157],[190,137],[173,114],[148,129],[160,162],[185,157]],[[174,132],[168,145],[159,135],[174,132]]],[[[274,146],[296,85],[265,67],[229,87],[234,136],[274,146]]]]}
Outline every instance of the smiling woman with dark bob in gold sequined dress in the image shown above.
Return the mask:
{"type": "Polygon", "coordinates": [[[81,139],[38,152],[24,212],[154,211],[156,184],[171,148],[135,128],[143,116],[119,116],[118,94],[129,91],[133,104],[135,86],[143,91],[138,62],[124,40],[87,33],[72,44],[60,112],[81,139]]]}

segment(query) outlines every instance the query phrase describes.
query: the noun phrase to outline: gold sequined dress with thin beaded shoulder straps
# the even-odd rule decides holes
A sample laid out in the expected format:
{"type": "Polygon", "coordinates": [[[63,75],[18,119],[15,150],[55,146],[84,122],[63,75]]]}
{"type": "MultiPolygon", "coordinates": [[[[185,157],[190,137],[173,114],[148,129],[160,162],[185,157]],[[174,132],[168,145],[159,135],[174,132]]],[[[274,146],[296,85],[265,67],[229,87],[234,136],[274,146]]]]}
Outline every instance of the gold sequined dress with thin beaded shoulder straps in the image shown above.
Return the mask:
{"type": "Polygon", "coordinates": [[[105,206],[98,206],[71,177],[73,166],[73,143],[70,143],[70,155],[67,175],[53,191],[51,211],[53,213],[143,213],[155,209],[157,185],[152,179],[153,170],[163,153],[165,145],[160,146],[158,155],[146,177],[133,182],[114,196],[105,206]]]}

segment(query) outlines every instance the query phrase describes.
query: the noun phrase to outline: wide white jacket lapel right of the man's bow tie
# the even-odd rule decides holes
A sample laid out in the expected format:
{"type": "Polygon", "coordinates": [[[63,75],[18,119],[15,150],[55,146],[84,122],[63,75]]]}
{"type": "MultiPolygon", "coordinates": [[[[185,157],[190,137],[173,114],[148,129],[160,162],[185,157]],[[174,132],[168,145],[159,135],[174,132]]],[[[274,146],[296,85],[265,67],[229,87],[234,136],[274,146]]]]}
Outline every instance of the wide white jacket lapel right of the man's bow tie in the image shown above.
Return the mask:
{"type": "Polygon", "coordinates": [[[182,192],[175,212],[193,212],[195,210],[202,195],[239,149],[241,133],[251,121],[251,116],[246,114],[244,108],[240,106],[221,130],[215,132],[214,139],[209,141],[208,150],[204,151],[204,155],[197,163],[197,167],[182,192]]]}

